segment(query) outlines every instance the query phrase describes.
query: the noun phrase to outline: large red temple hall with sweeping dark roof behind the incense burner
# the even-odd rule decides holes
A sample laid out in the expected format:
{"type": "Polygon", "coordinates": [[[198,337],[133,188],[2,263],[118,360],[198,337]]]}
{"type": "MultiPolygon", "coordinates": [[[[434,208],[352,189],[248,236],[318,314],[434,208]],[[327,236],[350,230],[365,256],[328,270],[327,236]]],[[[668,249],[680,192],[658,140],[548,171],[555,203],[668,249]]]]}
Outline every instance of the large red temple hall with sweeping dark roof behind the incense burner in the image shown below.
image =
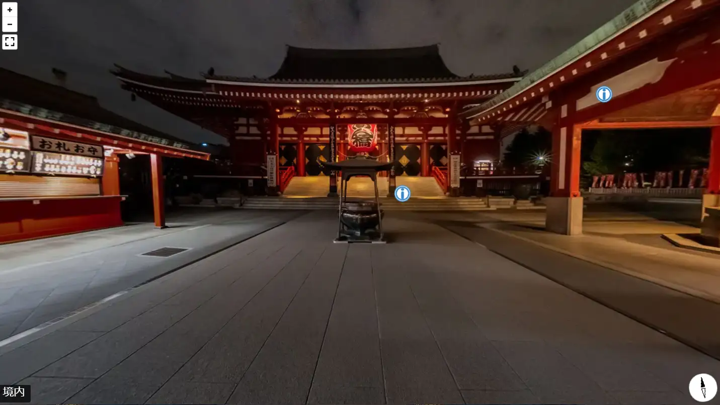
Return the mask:
{"type": "MultiPolygon", "coordinates": [[[[377,132],[370,155],[395,161],[395,176],[439,176],[458,194],[462,167],[500,154],[500,135],[458,114],[502,94],[523,76],[461,77],[446,67],[438,45],[383,50],[287,47],[269,78],[150,76],[117,67],[127,91],[222,135],[233,174],[267,176],[271,194],[292,176],[328,176],[323,161],[354,155],[348,125],[377,132]],[[266,169],[269,169],[266,171],[266,169]]],[[[542,114],[537,111],[536,115],[542,114]]],[[[329,193],[336,178],[329,176],[329,193]]]]}

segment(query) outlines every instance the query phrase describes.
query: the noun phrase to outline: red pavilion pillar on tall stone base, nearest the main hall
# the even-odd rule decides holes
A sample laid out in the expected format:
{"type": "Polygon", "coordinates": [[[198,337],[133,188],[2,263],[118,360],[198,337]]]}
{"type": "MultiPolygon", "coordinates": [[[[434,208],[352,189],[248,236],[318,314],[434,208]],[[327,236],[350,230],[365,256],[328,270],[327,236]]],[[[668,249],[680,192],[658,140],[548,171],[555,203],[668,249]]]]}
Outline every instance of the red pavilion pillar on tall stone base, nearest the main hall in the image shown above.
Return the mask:
{"type": "Polygon", "coordinates": [[[575,102],[563,104],[552,127],[550,196],[546,201],[545,228],[562,235],[582,234],[580,196],[580,144],[582,127],[572,119],[575,102]]]}

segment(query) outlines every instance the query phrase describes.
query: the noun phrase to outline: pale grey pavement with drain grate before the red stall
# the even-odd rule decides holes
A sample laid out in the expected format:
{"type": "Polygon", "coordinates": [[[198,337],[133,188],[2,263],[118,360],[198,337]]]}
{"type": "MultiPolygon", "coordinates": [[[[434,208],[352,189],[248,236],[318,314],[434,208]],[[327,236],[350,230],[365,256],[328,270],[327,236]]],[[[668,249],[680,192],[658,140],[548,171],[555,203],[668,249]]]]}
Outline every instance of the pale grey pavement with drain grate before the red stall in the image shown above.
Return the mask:
{"type": "Polygon", "coordinates": [[[0,340],[274,227],[288,211],[186,210],[168,229],[114,229],[0,245],[0,340]],[[140,256],[182,247],[169,258],[140,256]]]}

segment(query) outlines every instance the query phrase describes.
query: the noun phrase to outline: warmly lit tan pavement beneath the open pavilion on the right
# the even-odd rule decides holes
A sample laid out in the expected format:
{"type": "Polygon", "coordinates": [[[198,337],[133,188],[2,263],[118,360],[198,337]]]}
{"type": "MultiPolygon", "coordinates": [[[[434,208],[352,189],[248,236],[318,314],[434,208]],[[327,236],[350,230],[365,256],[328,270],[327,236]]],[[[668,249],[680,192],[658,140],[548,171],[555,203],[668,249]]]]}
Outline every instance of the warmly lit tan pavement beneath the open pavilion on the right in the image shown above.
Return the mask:
{"type": "Polygon", "coordinates": [[[720,304],[720,255],[662,240],[662,234],[697,233],[697,228],[637,213],[590,212],[583,222],[584,235],[564,237],[541,230],[542,215],[483,214],[474,223],[720,304]]]}

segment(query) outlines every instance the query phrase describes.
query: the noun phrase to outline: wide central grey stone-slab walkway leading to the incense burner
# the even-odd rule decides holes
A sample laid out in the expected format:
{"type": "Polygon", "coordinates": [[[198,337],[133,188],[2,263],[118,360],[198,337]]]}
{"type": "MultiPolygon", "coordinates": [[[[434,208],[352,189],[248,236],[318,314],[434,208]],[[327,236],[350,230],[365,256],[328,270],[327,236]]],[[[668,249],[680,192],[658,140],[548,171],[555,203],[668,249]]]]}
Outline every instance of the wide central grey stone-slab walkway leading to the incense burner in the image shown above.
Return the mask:
{"type": "Polygon", "coordinates": [[[720,376],[416,214],[387,215],[387,245],[336,227],[299,217],[66,319],[1,354],[0,381],[45,404],[690,404],[692,376],[720,376]]]}

